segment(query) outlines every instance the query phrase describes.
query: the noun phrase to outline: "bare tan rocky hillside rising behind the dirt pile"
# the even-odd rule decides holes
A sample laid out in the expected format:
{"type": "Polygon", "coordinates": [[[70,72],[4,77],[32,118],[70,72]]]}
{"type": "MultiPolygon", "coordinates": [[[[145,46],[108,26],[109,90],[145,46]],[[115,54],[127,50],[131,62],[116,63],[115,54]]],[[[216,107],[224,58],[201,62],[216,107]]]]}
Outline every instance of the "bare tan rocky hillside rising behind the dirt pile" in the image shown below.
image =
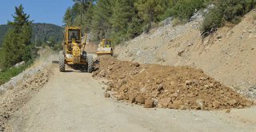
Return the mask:
{"type": "Polygon", "coordinates": [[[255,10],[238,25],[225,26],[207,38],[199,30],[202,20],[198,15],[182,26],[169,24],[150,30],[117,46],[116,56],[132,62],[191,66],[234,89],[255,89],[255,10]]]}

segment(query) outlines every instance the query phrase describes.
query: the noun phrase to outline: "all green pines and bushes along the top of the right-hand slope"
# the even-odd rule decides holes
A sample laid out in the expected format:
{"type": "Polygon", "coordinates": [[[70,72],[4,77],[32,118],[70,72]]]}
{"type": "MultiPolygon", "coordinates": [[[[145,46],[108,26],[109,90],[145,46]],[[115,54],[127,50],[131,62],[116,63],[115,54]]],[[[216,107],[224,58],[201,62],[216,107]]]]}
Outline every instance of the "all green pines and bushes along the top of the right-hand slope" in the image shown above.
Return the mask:
{"type": "Polygon", "coordinates": [[[193,14],[210,5],[202,33],[210,33],[226,22],[237,23],[255,6],[255,0],[73,0],[63,22],[67,26],[82,26],[94,36],[94,41],[113,38],[116,43],[148,32],[158,22],[173,17],[189,22],[193,14]]]}

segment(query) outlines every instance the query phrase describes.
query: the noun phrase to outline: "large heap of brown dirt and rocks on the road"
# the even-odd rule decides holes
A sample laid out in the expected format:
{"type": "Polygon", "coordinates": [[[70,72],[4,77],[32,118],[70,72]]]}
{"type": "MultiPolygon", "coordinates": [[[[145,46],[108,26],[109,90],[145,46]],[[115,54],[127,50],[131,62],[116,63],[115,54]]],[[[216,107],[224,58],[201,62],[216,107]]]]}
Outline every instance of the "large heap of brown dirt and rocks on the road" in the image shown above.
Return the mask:
{"type": "Polygon", "coordinates": [[[110,80],[106,90],[112,90],[118,100],[146,108],[217,110],[253,104],[202,70],[186,66],[140,65],[99,58],[93,76],[110,80]]]}

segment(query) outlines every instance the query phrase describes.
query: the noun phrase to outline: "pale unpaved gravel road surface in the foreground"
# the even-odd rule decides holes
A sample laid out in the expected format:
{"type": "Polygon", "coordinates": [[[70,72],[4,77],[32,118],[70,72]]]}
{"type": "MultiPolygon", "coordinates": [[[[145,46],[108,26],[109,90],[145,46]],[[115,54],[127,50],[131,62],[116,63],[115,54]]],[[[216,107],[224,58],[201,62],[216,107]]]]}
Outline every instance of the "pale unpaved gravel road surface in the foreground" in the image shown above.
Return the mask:
{"type": "Polygon", "coordinates": [[[145,109],[104,98],[91,74],[58,72],[7,123],[17,132],[256,131],[256,108],[225,111],[145,109]]]}

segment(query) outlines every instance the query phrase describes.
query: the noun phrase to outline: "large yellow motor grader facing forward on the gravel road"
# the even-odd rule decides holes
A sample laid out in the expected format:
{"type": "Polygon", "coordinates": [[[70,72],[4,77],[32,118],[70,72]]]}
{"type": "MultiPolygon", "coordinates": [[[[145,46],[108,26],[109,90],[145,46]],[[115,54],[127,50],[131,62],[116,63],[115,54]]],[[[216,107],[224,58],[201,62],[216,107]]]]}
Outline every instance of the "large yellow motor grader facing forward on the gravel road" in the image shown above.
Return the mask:
{"type": "Polygon", "coordinates": [[[79,27],[66,26],[63,50],[59,53],[59,70],[65,72],[65,66],[85,67],[91,73],[93,71],[94,59],[91,55],[86,54],[86,38],[82,42],[82,32],[79,27]]]}

